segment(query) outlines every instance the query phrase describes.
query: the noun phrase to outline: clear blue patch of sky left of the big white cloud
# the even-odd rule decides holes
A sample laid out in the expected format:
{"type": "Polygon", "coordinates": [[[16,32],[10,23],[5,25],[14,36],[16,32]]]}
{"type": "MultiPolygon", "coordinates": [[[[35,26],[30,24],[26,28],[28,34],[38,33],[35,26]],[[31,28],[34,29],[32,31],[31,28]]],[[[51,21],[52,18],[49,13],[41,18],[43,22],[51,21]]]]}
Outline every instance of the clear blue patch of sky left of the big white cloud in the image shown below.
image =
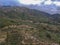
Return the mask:
{"type": "Polygon", "coordinates": [[[17,6],[19,3],[18,0],[0,0],[0,6],[17,6]]]}

